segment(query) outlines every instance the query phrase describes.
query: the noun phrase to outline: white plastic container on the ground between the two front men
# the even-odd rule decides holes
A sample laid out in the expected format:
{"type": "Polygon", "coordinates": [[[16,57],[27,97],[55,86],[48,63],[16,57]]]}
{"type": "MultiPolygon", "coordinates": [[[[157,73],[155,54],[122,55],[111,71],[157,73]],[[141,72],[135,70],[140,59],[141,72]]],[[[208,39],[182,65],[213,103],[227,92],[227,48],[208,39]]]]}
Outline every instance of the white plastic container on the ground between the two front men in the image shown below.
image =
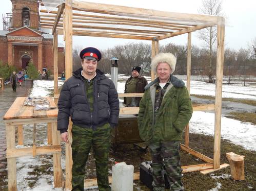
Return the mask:
{"type": "Polygon", "coordinates": [[[112,191],[133,191],[133,165],[125,162],[112,166],[112,191]]]}

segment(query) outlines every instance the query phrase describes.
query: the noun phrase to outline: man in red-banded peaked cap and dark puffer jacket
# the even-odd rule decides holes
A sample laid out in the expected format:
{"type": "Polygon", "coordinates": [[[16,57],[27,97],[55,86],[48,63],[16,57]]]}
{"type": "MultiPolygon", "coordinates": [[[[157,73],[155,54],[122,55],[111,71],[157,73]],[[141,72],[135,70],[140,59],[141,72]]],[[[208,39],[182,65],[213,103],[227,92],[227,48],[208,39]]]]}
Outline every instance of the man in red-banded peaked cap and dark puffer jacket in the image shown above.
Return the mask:
{"type": "Polygon", "coordinates": [[[58,100],[57,129],[68,142],[69,116],[72,127],[72,190],[84,190],[85,165],[93,148],[99,190],[111,190],[108,182],[110,132],[119,118],[119,99],[114,83],[97,68],[101,53],[87,47],[80,53],[82,68],[62,87],[58,100]]]}

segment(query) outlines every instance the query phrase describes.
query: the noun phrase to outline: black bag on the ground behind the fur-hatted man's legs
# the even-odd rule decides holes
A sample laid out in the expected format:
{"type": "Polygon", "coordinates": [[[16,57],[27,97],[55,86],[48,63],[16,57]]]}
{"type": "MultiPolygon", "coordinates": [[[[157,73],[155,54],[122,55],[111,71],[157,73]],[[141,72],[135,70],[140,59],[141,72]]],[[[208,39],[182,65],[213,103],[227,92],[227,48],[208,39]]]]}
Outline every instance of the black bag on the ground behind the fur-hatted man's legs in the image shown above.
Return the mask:
{"type": "MultiPolygon", "coordinates": [[[[149,188],[149,189],[153,189],[152,187],[152,182],[153,182],[153,177],[152,177],[152,167],[151,167],[151,161],[146,161],[146,162],[142,162],[139,166],[140,166],[140,180],[149,188]]],[[[165,188],[170,188],[170,184],[167,180],[167,175],[165,172],[165,167],[162,170],[162,174],[164,176],[164,180],[165,180],[165,188]]]]}

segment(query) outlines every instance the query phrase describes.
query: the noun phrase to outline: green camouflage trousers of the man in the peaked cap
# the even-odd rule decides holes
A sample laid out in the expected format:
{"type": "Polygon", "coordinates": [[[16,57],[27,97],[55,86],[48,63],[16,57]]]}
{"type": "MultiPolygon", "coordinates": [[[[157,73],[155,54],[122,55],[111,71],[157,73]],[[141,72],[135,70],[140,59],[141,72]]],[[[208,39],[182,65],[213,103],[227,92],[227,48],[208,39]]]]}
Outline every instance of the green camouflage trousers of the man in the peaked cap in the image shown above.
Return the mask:
{"type": "Polygon", "coordinates": [[[72,127],[72,190],[84,190],[85,165],[93,149],[97,184],[100,191],[109,191],[111,187],[108,182],[108,158],[110,150],[111,127],[105,124],[95,131],[90,128],[72,127]]]}

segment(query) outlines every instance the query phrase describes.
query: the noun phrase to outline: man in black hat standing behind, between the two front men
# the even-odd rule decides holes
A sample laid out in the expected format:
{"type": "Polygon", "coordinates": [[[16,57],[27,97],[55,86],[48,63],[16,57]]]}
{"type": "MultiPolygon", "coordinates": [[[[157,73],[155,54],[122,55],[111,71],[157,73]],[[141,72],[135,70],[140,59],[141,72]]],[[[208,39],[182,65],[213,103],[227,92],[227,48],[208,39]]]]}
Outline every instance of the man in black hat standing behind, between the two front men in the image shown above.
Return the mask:
{"type": "MultiPolygon", "coordinates": [[[[141,67],[134,66],[132,68],[131,77],[125,83],[125,93],[143,93],[144,87],[148,84],[148,81],[140,75],[141,67]]],[[[124,98],[124,104],[127,107],[139,107],[141,98],[124,98]]]]}

